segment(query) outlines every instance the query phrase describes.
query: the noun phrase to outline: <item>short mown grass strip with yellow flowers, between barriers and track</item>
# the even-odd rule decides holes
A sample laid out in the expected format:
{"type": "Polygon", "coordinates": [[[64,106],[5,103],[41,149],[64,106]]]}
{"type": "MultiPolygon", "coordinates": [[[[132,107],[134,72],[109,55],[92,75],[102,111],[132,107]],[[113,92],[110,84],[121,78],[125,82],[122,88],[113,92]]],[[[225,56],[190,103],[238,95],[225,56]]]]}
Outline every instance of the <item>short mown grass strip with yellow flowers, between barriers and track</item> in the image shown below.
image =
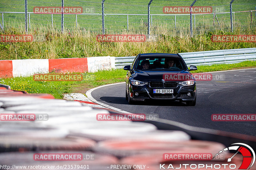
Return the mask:
{"type": "MultiPolygon", "coordinates": [[[[236,64],[218,64],[211,66],[198,66],[192,73],[222,71],[256,67],[256,61],[244,61],[236,64]]],[[[34,81],[33,76],[0,78],[0,83],[11,86],[13,90],[27,91],[28,93],[48,93],[57,99],[62,99],[65,93],[82,93],[88,89],[105,84],[123,82],[126,71],[113,69],[98,71],[96,73],[83,73],[83,81],[34,81]]]]}

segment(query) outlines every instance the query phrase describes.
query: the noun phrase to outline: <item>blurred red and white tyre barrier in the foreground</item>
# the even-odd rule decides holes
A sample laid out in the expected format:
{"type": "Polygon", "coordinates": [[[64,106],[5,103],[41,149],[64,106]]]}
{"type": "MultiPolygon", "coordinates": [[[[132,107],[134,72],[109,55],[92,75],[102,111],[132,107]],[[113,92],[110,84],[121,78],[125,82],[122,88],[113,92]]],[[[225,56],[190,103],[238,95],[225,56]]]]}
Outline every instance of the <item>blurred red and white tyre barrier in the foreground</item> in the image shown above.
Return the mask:
{"type": "MultiPolygon", "coordinates": [[[[162,119],[98,121],[97,114],[113,113],[76,101],[54,99],[51,95],[13,91],[0,84],[0,165],[6,165],[0,169],[7,170],[13,165],[23,166],[14,168],[20,170],[28,169],[24,166],[33,166],[29,169],[75,169],[74,166],[79,165],[76,169],[107,170],[114,165],[127,164],[129,166],[118,169],[156,170],[159,164],[166,164],[165,168],[168,163],[179,167],[180,160],[164,160],[164,153],[215,155],[235,142],[256,147],[256,138],[247,135],[162,119]],[[26,115],[35,117],[22,117],[26,115]],[[68,159],[56,156],[63,154],[69,155],[68,159]],[[56,160],[52,160],[52,155],[56,160]]],[[[234,161],[241,163],[242,158],[234,161]]],[[[195,161],[190,163],[195,164],[195,161]]],[[[224,160],[215,163],[224,163],[224,160]]]]}

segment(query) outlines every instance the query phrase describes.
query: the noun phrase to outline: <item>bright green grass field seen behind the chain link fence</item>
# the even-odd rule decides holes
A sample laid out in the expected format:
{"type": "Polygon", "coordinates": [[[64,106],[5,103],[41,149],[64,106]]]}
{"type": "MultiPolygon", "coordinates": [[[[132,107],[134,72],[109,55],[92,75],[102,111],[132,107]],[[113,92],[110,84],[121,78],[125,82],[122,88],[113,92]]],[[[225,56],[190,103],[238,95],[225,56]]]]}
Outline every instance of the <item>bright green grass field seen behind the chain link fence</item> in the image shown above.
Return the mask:
{"type": "MultiPolygon", "coordinates": [[[[117,1],[117,0],[106,0],[105,1],[105,14],[148,14],[148,2],[146,0],[138,1],[117,1]]],[[[229,12],[229,2],[228,0],[213,0],[213,1],[197,1],[195,6],[211,6],[212,11],[216,12],[229,12]]],[[[163,1],[155,0],[151,4],[150,14],[163,14],[164,6],[189,6],[192,1],[163,1]]],[[[33,7],[35,6],[61,6],[61,1],[29,1],[28,0],[28,12],[33,12],[33,7]]],[[[84,13],[97,13],[100,15],[77,15],[77,26],[79,29],[90,30],[92,32],[102,32],[102,16],[101,16],[101,1],[91,0],[91,1],[75,1],[68,0],[64,1],[64,6],[82,6],[84,13]]],[[[254,0],[238,1],[235,0],[233,3],[233,12],[236,11],[249,11],[255,10],[256,3],[254,0]]],[[[24,12],[24,1],[16,0],[3,0],[0,2],[0,10],[3,12],[24,12]]],[[[1,12],[0,11],[0,12],[1,12]]],[[[4,27],[15,27],[25,31],[25,14],[14,14],[14,13],[4,13],[4,27]]],[[[216,15],[220,26],[217,23],[216,18],[213,19],[212,14],[196,15],[196,23],[193,27],[195,32],[200,33],[202,28],[205,31],[213,31],[221,29],[222,31],[230,30],[230,15],[227,14],[217,14],[216,15]],[[214,23],[214,24],[213,24],[214,23]]],[[[255,11],[252,12],[253,26],[255,26],[255,11]]],[[[29,16],[28,16],[29,17],[29,16]]],[[[251,13],[242,12],[236,13],[234,17],[234,28],[247,27],[248,23],[251,23],[251,13]]],[[[143,15],[129,15],[127,25],[127,15],[106,15],[105,16],[105,31],[106,33],[122,33],[127,31],[127,26],[130,31],[147,33],[148,30],[148,18],[143,15]]],[[[29,23],[29,20],[28,20],[29,23]]],[[[61,25],[61,15],[53,14],[53,28],[60,30],[61,25]]],[[[52,16],[51,14],[30,14],[30,27],[31,30],[36,30],[40,27],[52,27],[52,16]]],[[[190,16],[189,15],[179,15],[176,17],[176,27],[175,27],[175,17],[174,16],[152,16],[152,25],[150,18],[150,26],[152,34],[161,33],[161,29],[164,28],[167,31],[172,32],[176,30],[178,32],[189,33],[190,26],[190,16]]],[[[29,27],[29,25],[28,25],[29,27]]],[[[74,30],[76,28],[76,15],[64,14],[64,28],[67,30],[74,30]]]]}

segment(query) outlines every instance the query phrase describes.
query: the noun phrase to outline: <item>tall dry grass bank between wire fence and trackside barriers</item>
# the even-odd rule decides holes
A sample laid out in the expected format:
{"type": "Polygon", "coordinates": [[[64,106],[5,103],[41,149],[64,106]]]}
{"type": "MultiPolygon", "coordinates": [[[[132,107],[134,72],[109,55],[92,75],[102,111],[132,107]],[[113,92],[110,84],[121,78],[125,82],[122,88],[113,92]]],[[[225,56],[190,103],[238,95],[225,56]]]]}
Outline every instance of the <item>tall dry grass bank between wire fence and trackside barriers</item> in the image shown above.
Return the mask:
{"type": "MultiPolygon", "coordinates": [[[[190,38],[187,32],[168,30],[168,27],[159,28],[156,32],[156,41],[145,42],[98,42],[97,34],[85,30],[75,30],[60,34],[58,31],[42,27],[29,34],[42,36],[38,42],[0,42],[0,60],[17,59],[58,59],[58,58],[83,58],[94,56],[135,56],[138,53],[186,53],[196,51],[253,48],[254,42],[212,42],[212,35],[239,35],[256,34],[256,26],[251,25],[246,29],[236,29],[230,32],[208,32],[202,27],[200,35],[190,38]]],[[[0,32],[1,34],[25,34],[15,28],[0,32]]],[[[113,32],[112,34],[116,34],[113,32]]],[[[143,34],[141,32],[122,32],[120,34],[143,34]]]]}

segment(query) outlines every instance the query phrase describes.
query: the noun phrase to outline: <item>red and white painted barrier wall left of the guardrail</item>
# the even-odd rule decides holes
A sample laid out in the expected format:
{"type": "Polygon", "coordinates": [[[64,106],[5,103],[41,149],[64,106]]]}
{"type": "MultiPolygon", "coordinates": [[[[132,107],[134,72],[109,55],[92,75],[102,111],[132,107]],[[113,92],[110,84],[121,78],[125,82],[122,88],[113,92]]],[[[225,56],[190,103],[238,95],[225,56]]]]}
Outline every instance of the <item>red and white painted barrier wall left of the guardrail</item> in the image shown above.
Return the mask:
{"type": "Polygon", "coordinates": [[[0,77],[30,76],[36,73],[96,72],[115,68],[115,57],[0,60],[0,77]]]}

